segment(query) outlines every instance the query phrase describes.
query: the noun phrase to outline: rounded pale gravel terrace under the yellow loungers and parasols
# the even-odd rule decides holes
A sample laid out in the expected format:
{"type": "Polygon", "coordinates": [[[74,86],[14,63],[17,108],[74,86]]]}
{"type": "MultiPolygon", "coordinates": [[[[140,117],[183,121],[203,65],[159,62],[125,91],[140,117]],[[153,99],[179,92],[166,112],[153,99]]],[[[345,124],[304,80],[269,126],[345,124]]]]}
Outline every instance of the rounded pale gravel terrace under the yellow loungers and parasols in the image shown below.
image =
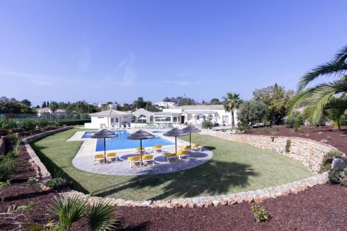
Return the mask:
{"type": "MultiPolygon", "coordinates": [[[[174,150],[172,150],[174,151],[174,150]]],[[[128,157],[135,156],[133,152],[117,153],[117,162],[108,164],[94,164],[94,155],[76,155],[72,164],[83,171],[90,173],[99,173],[113,176],[138,176],[138,175],[154,175],[161,173],[172,173],[191,169],[195,166],[204,164],[212,158],[212,151],[202,148],[201,152],[192,153],[189,160],[170,160],[162,153],[148,153],[154,156],[155,163],[146,164],[144,166],[130,167],[128,157]]]]}

